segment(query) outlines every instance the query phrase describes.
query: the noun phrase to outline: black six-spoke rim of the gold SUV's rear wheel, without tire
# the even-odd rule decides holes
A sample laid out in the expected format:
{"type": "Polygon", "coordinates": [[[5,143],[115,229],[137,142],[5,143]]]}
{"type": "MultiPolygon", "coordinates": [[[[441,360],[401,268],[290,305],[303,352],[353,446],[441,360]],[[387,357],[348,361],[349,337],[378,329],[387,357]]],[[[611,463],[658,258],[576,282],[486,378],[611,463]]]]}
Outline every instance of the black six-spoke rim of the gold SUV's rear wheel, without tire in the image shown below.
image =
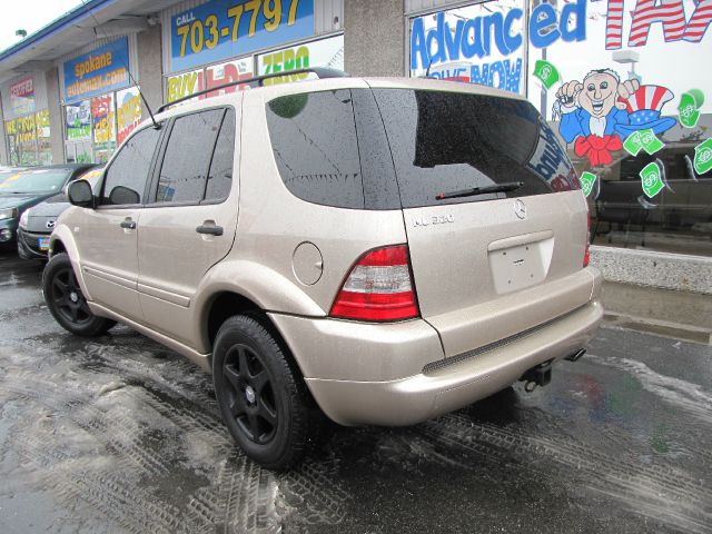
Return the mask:
{"type": "Polygon", "coordinates": [[[273,380],[259,355],[247,345],[233,345],[222,362],[228,408],[248,439],[266,445],[279,423],[273,380]]]}

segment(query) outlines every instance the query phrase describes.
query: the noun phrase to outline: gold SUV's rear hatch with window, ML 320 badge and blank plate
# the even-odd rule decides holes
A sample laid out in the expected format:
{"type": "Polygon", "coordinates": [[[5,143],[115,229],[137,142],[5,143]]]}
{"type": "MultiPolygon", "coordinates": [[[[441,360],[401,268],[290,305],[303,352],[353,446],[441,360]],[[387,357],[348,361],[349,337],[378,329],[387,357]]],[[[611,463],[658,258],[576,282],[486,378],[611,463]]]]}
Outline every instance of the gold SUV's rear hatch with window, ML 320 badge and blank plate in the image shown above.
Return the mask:
{"type": "Polygon", "coordinates": [[[421,315],[438,330],[446,356],[589,301],[585,199],[556,135],[531,103],[473,92],[373,91],[421,315]],[[472,190],[502,185],[512,190],[472,190]]]}

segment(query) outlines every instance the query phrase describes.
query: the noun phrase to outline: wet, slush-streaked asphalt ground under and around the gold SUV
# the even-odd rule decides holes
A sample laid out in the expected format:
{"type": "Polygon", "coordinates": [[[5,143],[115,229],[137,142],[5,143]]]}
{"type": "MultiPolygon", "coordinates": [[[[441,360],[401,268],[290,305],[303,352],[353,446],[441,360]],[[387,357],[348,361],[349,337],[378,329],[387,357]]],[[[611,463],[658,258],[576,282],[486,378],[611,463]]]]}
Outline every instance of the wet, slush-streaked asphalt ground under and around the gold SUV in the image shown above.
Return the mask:
{"type": "Polygon", "coordinates": [[[712,533],[710,346],[604,327],[545,388],[335,428],[275,474],[209,376],[126,327],[72,337],[40,278],[0,251],[0,533],[712,533]]]}

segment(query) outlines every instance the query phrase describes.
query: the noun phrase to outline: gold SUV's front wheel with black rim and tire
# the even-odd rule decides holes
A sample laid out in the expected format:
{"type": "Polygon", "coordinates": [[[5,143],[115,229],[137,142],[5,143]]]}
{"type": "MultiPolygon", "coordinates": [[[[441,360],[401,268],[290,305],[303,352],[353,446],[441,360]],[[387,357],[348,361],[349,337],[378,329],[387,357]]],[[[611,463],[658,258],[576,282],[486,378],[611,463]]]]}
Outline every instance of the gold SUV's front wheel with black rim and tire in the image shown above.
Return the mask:
{"type": "Polygon", "coordinates": [[[66,253],[52,256],[44,266],[42,293],[52,317],[72,334],[95,337],[116,325],[116,322],[91,313],[66,253]]]}

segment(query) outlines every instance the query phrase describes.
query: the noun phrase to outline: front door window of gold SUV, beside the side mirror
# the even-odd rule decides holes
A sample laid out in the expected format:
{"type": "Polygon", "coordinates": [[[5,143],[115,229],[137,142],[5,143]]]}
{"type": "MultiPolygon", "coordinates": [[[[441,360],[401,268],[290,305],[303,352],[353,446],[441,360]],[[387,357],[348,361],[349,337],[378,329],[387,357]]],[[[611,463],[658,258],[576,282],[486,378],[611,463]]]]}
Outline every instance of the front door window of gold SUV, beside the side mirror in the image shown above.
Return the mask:
{"type": "Polygon", "coordinates": [[[160,130],[146,128],[132,136],[106,172],[101,204],[140,204],[160,130]]]}

